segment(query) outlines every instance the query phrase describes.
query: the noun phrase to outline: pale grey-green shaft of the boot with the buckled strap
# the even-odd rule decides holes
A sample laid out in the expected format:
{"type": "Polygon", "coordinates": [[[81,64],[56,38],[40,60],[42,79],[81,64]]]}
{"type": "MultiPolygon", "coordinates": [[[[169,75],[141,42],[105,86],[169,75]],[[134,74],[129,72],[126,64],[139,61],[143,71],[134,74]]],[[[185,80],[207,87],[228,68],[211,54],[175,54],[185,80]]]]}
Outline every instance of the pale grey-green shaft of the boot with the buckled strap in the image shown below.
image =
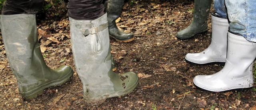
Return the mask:
{"type": "Polygon", "coordinates": [[[108,74],[103,74],[111,69],[108,27],[98,33],[84,35],[84,30],[107,24],[107,14],[96,20],[69,19],[74,63],[84,86],[104,84],[105,79],[110,81],[108,74]]]}

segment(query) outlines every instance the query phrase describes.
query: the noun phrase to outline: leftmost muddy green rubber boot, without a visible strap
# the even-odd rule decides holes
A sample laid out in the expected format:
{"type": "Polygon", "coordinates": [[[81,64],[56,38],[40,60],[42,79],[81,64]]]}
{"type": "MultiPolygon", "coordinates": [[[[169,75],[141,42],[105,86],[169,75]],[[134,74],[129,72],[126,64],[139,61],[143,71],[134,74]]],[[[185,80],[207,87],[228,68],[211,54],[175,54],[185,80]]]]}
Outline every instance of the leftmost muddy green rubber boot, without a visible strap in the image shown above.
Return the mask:
{"type": "Polygon", "coordinates": [[[62,66],[52,70],[44,62],[36,28],[35,14],[2,15],[2,38],[10,67],[24,99],[33,99],[45,88],[68,81],[73,70],[62,66]]]}

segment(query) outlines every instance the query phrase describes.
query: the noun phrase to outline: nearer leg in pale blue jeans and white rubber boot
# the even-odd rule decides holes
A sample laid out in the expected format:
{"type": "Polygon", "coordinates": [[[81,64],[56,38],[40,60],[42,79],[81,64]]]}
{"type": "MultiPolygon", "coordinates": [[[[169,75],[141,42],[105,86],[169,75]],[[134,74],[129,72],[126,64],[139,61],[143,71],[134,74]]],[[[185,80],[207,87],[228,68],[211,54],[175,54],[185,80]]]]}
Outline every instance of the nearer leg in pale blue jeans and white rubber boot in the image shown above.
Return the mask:
{"type": "Polygon", "coordinates": [[[194,84],[220,92],[253,86],[253,62],[256,57],[255,0],[225,0],[230,20],[227,58],[224,68],[213,75],[199,75],[194,84]]]}

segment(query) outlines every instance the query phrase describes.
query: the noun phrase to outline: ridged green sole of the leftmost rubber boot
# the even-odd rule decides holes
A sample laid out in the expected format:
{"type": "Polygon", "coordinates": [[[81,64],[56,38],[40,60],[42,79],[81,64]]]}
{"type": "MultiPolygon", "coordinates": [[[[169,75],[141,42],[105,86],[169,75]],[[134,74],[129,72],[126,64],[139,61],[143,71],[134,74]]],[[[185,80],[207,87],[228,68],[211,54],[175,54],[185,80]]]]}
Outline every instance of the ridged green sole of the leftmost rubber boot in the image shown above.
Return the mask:
{"type": "Polygon", "coordinates": [[[38,95],[43,94],[44,89],[52,87],[52,86],[59,86],[63,83],[66,83],[66,81],[68,81],[72,76],[73,76],[73,70],[71,69],[69,74],[67,74],[65,77],[63,77],[63,79],[58,79],[55,81],[48,82],[46,84],[39,86],[38,88],[34,88],[34,90],[30,90],[28,92],[20,92],[20,94],[22,94],[22,97],[25,100],[32,100],[32,99],[36,98],[38,95]],[[66,77],[68,77],[68,78],[66,78],[66,77]]]}

